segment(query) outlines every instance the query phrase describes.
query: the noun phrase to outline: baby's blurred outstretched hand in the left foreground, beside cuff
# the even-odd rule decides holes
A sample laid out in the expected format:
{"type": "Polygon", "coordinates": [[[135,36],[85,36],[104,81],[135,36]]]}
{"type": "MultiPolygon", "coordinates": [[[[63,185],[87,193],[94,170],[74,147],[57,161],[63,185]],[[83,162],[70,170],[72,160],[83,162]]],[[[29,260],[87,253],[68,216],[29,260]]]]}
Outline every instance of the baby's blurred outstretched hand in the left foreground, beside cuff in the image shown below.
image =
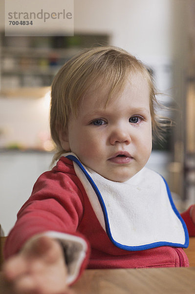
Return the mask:
{"type": "Polygon", "coordinates": [[[5,289],[0,294],[68,294],[66,277],[61,245],[46,236],[39,237],[28,241],[19,254],[5,262],[5,289]]]}

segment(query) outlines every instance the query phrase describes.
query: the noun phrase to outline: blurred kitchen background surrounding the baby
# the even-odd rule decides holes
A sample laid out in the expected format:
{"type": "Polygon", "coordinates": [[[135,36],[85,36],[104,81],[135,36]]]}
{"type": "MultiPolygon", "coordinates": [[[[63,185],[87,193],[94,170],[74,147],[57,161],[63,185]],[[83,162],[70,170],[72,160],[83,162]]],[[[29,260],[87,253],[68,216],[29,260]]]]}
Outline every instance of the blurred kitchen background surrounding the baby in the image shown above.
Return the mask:
{"type": "Polygon", "coordinates": [[[172,111],[148,167],[183,211],[195,203],[195,0],[74,0],[73,37],[5,37],[0,0],[0,224],[7,235],[37,177],[50,169],[50,84],[80,49],[113,45],[142,60],[172,111]]]}

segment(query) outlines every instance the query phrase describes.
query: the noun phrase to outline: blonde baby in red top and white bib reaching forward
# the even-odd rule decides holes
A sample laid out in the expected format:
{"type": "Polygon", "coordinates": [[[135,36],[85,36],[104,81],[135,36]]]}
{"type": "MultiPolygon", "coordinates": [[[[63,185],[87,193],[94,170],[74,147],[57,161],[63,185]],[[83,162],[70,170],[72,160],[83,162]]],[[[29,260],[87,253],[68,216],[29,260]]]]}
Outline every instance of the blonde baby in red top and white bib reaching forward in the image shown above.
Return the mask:
{"type": "Polygon", "coordinates": [[[11,291],[69,293],[85,268],[189,266],[182,247],[188,231],[195,235],[194,206],[181,218],[166,181],[145,167],[152,134],[166,127],[156,104],[147,69],[119,48],[85,49],[57,73],[50,128],[58,162],[7,238],[11,291]]]}

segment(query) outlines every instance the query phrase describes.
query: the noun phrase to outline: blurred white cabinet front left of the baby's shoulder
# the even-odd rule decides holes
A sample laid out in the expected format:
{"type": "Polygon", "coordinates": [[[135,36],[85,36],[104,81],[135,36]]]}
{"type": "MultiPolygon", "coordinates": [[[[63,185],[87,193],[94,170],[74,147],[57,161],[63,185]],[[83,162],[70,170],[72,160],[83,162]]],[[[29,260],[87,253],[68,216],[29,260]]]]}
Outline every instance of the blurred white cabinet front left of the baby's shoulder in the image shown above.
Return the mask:
{"type": "Polygon", "coordinates": [[[41,173],[50,170],[53,153],[0,150],[0,224],[7,235],[41,173]]]}

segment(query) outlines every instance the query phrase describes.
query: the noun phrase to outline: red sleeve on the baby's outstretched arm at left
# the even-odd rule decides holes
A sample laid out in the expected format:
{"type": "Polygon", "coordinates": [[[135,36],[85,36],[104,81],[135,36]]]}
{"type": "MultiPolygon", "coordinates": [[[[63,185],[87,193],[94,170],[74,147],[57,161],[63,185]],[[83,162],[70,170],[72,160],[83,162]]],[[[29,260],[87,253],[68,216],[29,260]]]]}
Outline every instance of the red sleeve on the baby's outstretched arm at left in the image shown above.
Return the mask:
{"type": "MultiPolygon", "coordinates": [[[[44,172],[33,187],[32,195],[17,215],[17,222],[7,237],[4,256],[17,253],[33,235],[57,231],[77,235],[83,217],[83,186],[74,174],[44,172]]],[[[89,251],[89,250],[88,250],[89,251]]],[[[88,252],[86,254],[88,259],[88,252]]],[[[84,261],[84,264],[87,260],[84,261]]]]}

